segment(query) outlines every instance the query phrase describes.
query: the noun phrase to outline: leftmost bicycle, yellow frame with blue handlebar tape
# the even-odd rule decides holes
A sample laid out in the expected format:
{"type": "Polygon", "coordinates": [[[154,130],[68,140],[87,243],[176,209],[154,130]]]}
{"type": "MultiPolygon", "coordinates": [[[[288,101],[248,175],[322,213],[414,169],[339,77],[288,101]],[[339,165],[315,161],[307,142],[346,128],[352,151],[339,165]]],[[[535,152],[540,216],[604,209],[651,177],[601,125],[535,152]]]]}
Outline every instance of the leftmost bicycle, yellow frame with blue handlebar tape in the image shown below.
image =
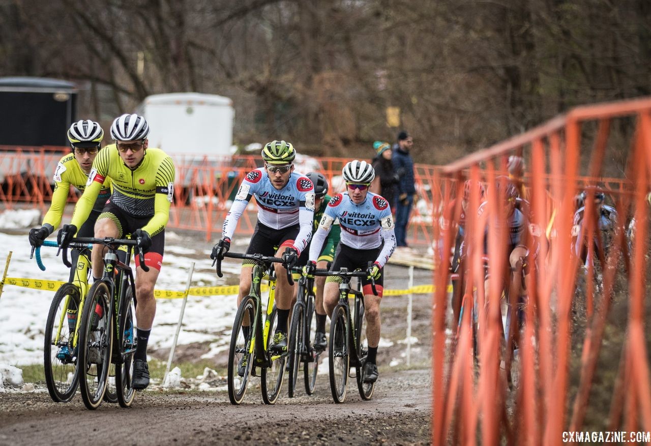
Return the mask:
{"type": "MultiPolygon", "coordinates": [[[[46,240],[43,246],[58,247],[59,245],[46,240]]],[[[91,247],[92,245],[85,245],[83,249],[76,249],[79,257],[74,268],[73,279],[61,285],[55,292],[48,312],[43,348],[44,371],[48,393],[54,402],[72,400],[79,385],[79,368],[77,367],[79,318],[77,315],[79,309],[83,307],[89,288],[90,259],[88,251],[91,247]],[[72,376],[70,376],[71,374],[72,376]]],[[[40,247],[32,247],[29,257],[34,257],[35,253],[38,268],[45,271],[46,267],[40,257],[40,247]]],[[[114,369],[109,369],[109,376],[115,376],[114,369]]],[[[107,388],[104,398],[107,402],[118,402],[115,385],[107,388]]]]}

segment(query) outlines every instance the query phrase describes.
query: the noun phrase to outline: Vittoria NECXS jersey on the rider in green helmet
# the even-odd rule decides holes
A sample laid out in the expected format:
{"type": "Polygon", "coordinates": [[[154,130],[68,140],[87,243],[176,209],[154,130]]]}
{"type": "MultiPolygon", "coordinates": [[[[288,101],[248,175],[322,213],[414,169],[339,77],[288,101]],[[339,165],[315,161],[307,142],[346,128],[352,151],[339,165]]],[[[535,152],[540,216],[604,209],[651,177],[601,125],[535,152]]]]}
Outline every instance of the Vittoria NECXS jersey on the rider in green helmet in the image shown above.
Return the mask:
{"type": "Polygon", "coordinates": [[[231,238],[238,220],[251,197],[258,203],[258,221],[271,229],[283,229],[299,224],[300,230],[294,247],[300,254],[312,236],[314,218],[314,186],[307,176],[292,172],[287,185],[278,190],[273,187],[265,169],[255,169],[245,176],[226,214],[221,230],[222,238],[231,238]]]}

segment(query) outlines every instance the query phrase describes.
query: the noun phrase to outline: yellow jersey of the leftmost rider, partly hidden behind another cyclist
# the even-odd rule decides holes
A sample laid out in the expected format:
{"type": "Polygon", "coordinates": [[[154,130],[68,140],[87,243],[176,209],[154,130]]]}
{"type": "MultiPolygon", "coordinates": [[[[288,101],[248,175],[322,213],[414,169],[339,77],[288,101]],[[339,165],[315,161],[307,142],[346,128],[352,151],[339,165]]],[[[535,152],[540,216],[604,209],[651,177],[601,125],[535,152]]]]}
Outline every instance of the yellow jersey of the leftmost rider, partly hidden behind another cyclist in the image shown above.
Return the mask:
{"type": "MultiPolygon", "coordinates": [[[[63,216],[63,211],[68,201],[70,186],[72,185],[78,191],[83,192],[86,189],[87,182],[88,174],[81,170],[81,166],[75,159],[75,155],[70,153],[63,156],[57,164],[57,169],[54,171],[52,202],[49,206],[48,213],[43,218],[43,226],[50,225],[50,232],[57,229],[61,224],[61,217],[63,216]]],[[[92,204],[91,209],[102,210],[104,208],[106,199],[111,195],[110,186],[111,180],[107,178],[100,186],[97,199],[92,204]]]]}

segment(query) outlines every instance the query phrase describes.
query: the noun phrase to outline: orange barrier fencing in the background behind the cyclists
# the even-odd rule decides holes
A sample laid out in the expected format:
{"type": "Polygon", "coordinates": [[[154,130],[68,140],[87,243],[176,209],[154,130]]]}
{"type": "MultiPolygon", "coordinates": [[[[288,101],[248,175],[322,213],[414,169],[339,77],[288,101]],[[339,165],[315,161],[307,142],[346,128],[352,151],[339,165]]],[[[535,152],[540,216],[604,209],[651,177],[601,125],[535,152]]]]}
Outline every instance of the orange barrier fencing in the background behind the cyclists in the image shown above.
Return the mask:
{"type": "MultiPolygon", "coordinates": [[[[12,208],[18,203],[30,203],[45,212],[52,197],[52,176],[66,147],[8,147],[0,146],[0,204],[12,208]]],[[[169,227],[201,230],[206,240],[221,234],[221,225],[230,208],[230,200],[240,182],[252,169],[262,165],[260,156],[173,156],[176,167],[174,204],[169,227]]],[[[307,158],[299,161],[302,173],[320,171],[331,184],[331,193],[341,191],[341,175],[348,158],[307,158]],[[316,160],[316,161],[315,161],[316,160]],[[333,181],[334,180],[334,181],[333,181]]],[[[414,206],[409,223],[408,241],[413,245],[432,244],[432,190],[436,167],[417,164],[415,181],[420,202],[414,206]]],[[[76,202],[77,194],[70,188],[69,202],[76,202]]],[[[238,224],[238,234],[253,234],[256,206],[252,204],[238,224]]]]}

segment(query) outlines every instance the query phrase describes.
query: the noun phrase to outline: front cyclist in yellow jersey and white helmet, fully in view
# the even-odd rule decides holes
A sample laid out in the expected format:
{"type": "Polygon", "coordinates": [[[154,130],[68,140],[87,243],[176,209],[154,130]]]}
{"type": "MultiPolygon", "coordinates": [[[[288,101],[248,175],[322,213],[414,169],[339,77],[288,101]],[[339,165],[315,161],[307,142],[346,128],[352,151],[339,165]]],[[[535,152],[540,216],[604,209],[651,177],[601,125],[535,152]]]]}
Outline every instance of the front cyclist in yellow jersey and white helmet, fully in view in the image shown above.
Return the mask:
{"type": "MultiPolygon", "coordinates": [[[[135,308],[137,349],[133,363],[133,388],[149,385],[146,348],[154,315],[156,300],[154,285],[160,273],[165,247],[165,225],[174,196],[174,164],[159,148],[149,148],[149,126],[144,117],[122,115],[111,125],[115,144],[106,146],[92,163],[86,190],[75,206],[70,225],[59,230],[59,244],[66,245],[77,232],[77,227],[88,216],[92,203],[106,178],[111,178],[113,193],[106,202],[95,224],[95,236],[123,237],[132,234],[145,252],[145,272],[135,258],[135,308]]],[[[102,277],[105,248],[96,245],[92,250],[93,277],[102,277]]]]}

